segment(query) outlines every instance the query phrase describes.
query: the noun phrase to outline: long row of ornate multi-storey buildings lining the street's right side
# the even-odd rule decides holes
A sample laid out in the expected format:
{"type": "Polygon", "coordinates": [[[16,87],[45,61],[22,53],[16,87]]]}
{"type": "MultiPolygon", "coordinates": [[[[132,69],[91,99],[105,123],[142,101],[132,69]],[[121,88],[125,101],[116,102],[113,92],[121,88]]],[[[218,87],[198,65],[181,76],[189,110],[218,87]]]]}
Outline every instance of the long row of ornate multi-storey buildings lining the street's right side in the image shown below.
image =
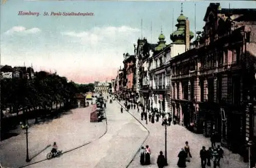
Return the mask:
{"type": "Polygon", "coordinates": [[[157,44],[138,39],[134,55],[123,55],[114,92],[206,137],[218,133],[222,146],[246,160],[248,141],[256,142],[255,14],[210,3],[203,32],[191,42],[195,34],[181,10],[172,43],[161,32],[157,44]]]}

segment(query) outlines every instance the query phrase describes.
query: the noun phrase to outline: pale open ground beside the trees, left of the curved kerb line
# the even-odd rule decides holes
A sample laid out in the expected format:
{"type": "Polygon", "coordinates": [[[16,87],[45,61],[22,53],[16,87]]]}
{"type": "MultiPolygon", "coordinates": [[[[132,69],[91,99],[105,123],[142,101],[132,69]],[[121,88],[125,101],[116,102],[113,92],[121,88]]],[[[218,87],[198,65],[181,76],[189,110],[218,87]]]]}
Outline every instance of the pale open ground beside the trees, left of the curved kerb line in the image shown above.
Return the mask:
{"type": "MultiPolygon", "coordinates": [[[[91,108],[77,108],[67,114],[29,128],[29,157],[33,163],[46,159],[54,141],[58,149],[65,152],[101,136],[105,122],[90,123],[91,108]]],[[[18,128],[20,129],[20,128],[18,128]]],[[[4,167],[19,167],[26,162],[26,134],[22,133],[0,142],[0,163],[4,167]]]]}

